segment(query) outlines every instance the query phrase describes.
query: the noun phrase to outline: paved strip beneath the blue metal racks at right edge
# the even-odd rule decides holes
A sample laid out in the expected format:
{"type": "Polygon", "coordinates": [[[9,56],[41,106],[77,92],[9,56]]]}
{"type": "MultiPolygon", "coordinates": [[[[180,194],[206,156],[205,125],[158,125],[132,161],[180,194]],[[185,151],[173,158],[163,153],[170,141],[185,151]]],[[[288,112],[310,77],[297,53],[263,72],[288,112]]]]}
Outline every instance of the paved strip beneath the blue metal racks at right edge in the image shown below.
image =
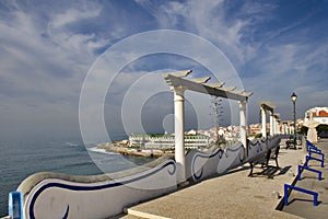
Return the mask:
{"type": "MultiPolygon", "coordinates": [[[[328,139],[321,139],[316,146],[328,155],[328,139]]],[[[317,157],[316,158],[320,158],[317,157]]],[[[326,159],[327,162],[327,159],[326,159]]],[[[311,160],[308,166],[323,172],[323,180],[318,181],[318,174],[309,171],[303,171],[301,181],[295,186],[303,187],[318,193],[318,206],[313,205],[313,196],[292,191],[289,197],[289,205],[283,211],[293,214],[303,218],[328,218],[328,165],[321,168],[320,162],[311,160]]]]}

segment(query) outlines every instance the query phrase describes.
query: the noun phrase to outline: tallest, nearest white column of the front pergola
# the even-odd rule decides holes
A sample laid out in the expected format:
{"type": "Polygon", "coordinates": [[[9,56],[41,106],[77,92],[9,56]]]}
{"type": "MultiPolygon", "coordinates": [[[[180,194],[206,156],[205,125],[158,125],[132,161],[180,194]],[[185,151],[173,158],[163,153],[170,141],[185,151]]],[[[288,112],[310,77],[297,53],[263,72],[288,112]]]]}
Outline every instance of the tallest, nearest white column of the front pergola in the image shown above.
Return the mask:
{"type": "Polygon", "coordinates": [[[186,181],[185,162],[185,89],[174,88],[174,131],[175,131],[175,162],[177,165],[177,183],[186,181]]]}

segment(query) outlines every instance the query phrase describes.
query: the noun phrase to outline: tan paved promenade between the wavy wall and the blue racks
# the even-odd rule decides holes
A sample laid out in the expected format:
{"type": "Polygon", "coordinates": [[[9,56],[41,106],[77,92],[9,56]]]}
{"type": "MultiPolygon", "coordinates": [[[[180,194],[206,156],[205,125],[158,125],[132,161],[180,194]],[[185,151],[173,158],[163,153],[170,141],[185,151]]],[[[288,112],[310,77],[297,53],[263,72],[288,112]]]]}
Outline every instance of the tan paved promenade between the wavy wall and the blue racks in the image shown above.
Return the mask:
{"type": "Polygon", "coordinates": [[[305,157],[302,149],[284,148],[282,143],[279,154],[282,171],[278,171],[273,180],[247,177],[249,166],[245,164],[225,175],[131,207],[124,218],[297,218],[276,210],[283,196],[284,183],[293,183],[297,164],[305,157]]]}

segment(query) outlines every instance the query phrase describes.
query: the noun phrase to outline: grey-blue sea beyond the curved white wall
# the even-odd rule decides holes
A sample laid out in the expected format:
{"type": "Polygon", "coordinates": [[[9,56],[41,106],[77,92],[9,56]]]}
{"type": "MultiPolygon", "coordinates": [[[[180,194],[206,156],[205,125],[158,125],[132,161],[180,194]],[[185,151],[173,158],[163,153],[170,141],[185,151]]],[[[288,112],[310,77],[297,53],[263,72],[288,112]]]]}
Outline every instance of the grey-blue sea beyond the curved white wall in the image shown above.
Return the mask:
{"type": "Polygon", "coordinates": [[[94,146],[84,146],[81,139],[0,139],[0,217],[8,215],[8,194],[34,173],[94,175],[127,170],[153,160],[93,151],[94,146]],[[102,165],[104,163],[106,165],[102,165]]]}

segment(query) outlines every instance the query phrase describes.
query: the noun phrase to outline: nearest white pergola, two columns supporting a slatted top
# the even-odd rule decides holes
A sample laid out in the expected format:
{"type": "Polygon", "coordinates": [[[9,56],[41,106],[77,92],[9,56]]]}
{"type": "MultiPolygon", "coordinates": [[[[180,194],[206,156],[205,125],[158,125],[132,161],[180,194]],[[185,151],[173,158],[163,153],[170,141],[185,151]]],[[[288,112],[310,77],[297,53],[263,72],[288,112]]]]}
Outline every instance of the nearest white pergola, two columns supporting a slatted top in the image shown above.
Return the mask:
{"type": "Polygon", "coordinates": [[[186,181],[185,166],[185,96],[186,90],[204,93],[212,96],[224,97],[238,101],[239,103],[239,124],[241,141],[244,147],[246,143],[246,104],[253,92],[235,90],[235,88],[223,88],[224,83],[207,83],[211,78],[184,79],[191,70],[169,72],[164,74],[164,79],[174,92],[174,114],[175,114],[175,161],[177,164],[177,183],[186,181]]]}

